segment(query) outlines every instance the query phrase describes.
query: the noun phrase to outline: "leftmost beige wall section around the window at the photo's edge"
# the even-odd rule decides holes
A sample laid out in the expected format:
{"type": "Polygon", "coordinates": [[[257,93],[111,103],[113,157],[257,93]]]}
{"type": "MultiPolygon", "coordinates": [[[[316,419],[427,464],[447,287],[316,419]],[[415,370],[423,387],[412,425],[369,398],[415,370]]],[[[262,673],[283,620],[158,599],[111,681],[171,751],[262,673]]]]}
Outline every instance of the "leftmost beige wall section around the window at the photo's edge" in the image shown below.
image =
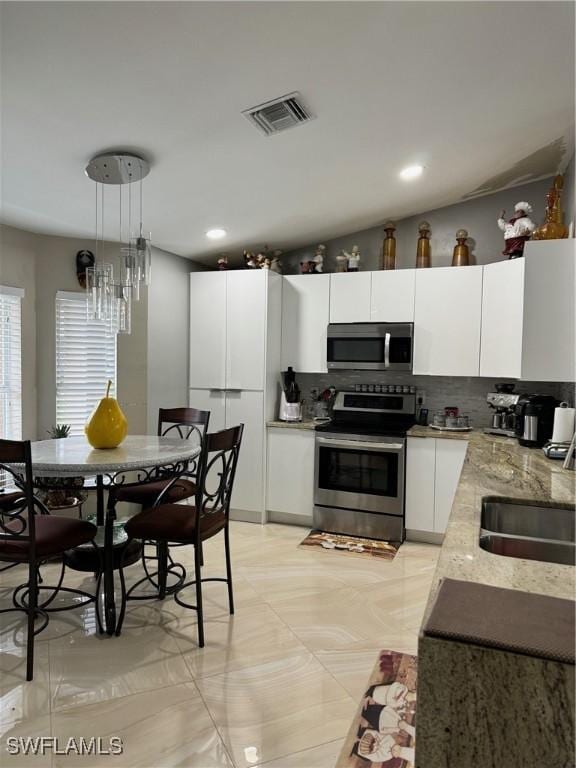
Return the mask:
{"type": "Polygon", "coordinates": [[[30,232],[0,225],[0,284],[24,289],[22,299],[22,436],[36,438],[36,248],[30,232]]]}

